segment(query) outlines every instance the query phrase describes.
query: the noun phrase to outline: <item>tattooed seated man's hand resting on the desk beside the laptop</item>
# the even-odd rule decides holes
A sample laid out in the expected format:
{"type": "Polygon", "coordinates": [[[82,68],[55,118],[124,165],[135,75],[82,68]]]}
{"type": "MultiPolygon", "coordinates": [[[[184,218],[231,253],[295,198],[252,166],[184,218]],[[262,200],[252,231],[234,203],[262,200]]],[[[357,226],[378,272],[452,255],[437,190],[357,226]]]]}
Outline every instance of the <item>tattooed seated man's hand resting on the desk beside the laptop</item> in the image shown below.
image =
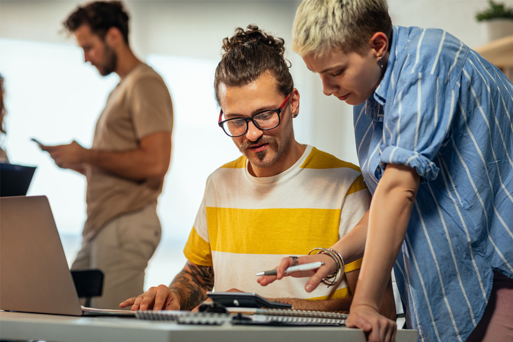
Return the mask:
{"type": "Polygon", "coordinates": [[[120,308],[132,306],[131,310],[180,310],[180,299],[166,285],[151,287],[145,293],[120,303],[120,308]]]}

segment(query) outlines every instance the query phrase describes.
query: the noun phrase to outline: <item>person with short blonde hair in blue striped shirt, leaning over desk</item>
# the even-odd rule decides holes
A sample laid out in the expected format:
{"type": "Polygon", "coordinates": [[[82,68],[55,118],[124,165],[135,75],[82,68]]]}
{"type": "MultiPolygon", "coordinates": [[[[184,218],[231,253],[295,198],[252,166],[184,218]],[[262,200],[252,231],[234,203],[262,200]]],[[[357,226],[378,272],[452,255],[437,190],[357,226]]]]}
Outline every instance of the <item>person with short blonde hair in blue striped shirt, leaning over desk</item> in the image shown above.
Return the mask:
{"type": "MultiPolygon", "coordinates": [[[[304,0],[292,39],[324,94],[354,106],[373,194],[367,229],[332,246],[346,262],[365,247],[347,326],[394,339],[377,311],[393,267],[420,341],[513,340],[511,82],[443,30],[392,26],[384,0],[304,0]]],[[[300,263],[318,260],[294,274],[308,292],[339,271],[327,254],[300,263]]]]}

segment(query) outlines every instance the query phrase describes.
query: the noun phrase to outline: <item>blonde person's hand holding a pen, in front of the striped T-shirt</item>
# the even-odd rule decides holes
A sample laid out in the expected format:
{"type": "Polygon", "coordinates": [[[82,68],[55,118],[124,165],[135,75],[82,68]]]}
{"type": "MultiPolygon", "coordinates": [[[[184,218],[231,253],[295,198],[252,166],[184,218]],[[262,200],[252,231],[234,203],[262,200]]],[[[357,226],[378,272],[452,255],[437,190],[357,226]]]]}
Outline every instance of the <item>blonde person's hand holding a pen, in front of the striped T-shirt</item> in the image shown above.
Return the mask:
{"type": "Polygon", "coordinates": [[[327,254],[313,254],[313,255],[304,255],[300,256],[298,260],[298,265],[302,264],[308,264],[308,263],[315,263],[317,261],[323,261],[324,265],[318,268],[317,270],[312,271],[297,271],[292,272],[289,274],[285,274],[285,270],[293,266],[294,260],[288,256],[283,258],[280,261],[280,265],[276,267],[277,275],[262,275],[260,276],[257,281],[260,285],[266,286],[268,284],[271,284],[274,280],[280,280],[284,276],[292,276],[292,277],[310,277],[308,279],[305,290],[306,292],[312,292],[317,288],[317,286],[321,283],[321,280],[326,277],[327,275],[335,272],[337,270],[337,264],[335,264],[335,261],[333,258],[327,254]]]}

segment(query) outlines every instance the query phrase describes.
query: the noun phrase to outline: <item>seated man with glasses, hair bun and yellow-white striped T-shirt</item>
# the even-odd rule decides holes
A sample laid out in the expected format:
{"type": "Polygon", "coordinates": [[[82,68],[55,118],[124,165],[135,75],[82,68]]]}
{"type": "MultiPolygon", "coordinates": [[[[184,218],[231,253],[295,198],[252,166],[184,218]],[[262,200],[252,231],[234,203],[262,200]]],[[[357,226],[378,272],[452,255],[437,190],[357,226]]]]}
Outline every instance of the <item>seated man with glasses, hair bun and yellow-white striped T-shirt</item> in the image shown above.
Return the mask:
{"type": "MultiPolygon", "coordinates": [[[[208,177],[184,249],[187,264],[171,285],[150,288],[120,306],[191,310],[215,288],[258,292],[297,309],[347,310],[361,260],[346,265],[337,286],[312,293],[293,277],[260,287],[255,273],[272,268],[280,256],[329,247],[355,225],[366,225],[370,195],[362,175],[358,167],[295,140],[299,92],[283,58],[283,39],[248,26],[225,38],[224,50],[214,79],[219,126],[243,156],[208,177]]],[[[391,286],[387,293],[383,313],[393,318],[391,286]]]]}

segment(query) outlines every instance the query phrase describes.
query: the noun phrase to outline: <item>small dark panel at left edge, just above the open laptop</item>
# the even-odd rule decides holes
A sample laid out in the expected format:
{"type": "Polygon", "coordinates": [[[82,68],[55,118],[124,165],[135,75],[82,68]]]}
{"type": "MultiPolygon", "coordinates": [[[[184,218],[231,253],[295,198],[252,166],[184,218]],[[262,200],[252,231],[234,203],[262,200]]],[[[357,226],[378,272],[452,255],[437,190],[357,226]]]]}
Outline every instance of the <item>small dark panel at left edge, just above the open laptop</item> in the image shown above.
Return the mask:
{"type": "Polygon", "coordinates": [[[26,195],[34,171],[34,166],[0,163],[0,197],[26,195]]]}

